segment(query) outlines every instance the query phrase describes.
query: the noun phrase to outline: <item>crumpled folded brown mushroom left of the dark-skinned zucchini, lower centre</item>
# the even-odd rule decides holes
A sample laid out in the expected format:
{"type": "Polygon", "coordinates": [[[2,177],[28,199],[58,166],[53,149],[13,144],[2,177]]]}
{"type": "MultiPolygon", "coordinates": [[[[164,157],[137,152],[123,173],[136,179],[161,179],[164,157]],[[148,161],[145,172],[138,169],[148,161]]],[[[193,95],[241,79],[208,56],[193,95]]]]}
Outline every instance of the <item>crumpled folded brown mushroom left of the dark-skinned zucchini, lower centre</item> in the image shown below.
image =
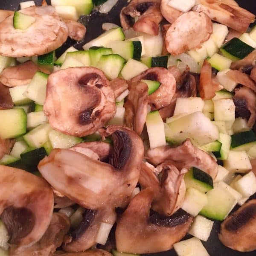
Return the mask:
{"type": "Polygon", "coordinates": [[[183,204],[186,193],[183,176],[187,169],[179,171],[172,163],[168,162],[158,166],[158,169],[162,173],[160,181],[151,168],[142,163],[139,183],[142,188],[153,189],[152,209],[162,215],[170,216],[183,204]]]}

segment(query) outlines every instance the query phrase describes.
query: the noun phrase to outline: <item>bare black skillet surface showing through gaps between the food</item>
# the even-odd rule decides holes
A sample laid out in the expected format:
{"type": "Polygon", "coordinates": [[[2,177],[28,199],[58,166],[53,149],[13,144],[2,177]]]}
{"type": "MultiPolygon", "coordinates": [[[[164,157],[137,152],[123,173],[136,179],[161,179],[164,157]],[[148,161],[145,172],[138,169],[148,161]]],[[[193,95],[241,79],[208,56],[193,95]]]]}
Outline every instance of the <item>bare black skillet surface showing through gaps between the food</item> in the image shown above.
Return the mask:
{"type": "MultiPolygon", "coordinates": [[[[16,10],[19,7],[19,3],[25,0],[0,0],[0,9],[7,10],[16,10]]],[[[247,9],[248,11],[256,14],[256,0],[236,0],[239,3],[239,6],[247,9]]],[[[35,3],[38,5],[41,3],[41,0],[35,0],[35,3]]],[[[64,49],[67,49],[71,45],[74,45],[76,48],[81,49],[81,46],[85,42],[90,41],[93,38],[96,38],[100,35],[102,30],[102,23],[111,22],[120,25],[119,13],[123,6],[127,5],[127,0],[119,0],[118,4],[109,12],[108,14],[99,14],[99,12],[93,12],[90,17],[84,17],[82,22],[87,28],[86,37],[83,42],[76,43],[76,41],[68,40],[64,46],[59,49],[59,54],[63,52],[64,49]]],[[[17,38],[18,39],[18,38],[17,38]]],[[[254,195],[255,198],[255,195],[254,195]]],[[[225,247],[218,239],[218,230],[220,222],[215,221],[212,228],[211,235],[207,242],[203,241],[204,246],[206,247],[210,256],[256,256],[256,250],[250,253],[240,253],[235,250],[231,250],[225,247]]],[[[134,227],[136,228],[136,227],[134,227]]],[[[188,239],[191,236],[186,236],[184,239],[188,239]]],[[[169,250],[162,253],[151,253],[147,254],[148,256],[177,256],[174,250],[169,250]]]]}

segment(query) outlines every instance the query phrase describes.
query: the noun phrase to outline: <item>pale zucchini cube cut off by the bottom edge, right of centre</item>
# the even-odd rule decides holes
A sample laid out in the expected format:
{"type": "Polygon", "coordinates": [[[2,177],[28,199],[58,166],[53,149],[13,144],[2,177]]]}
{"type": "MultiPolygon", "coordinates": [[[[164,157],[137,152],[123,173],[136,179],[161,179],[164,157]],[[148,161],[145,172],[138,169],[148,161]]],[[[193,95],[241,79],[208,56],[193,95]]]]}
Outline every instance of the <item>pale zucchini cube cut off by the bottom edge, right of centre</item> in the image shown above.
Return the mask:
{"type": "Polygon", "coordinates": [[[178,256],[209,256],[202,242],[195,237],[173,245],[178,256]]]}

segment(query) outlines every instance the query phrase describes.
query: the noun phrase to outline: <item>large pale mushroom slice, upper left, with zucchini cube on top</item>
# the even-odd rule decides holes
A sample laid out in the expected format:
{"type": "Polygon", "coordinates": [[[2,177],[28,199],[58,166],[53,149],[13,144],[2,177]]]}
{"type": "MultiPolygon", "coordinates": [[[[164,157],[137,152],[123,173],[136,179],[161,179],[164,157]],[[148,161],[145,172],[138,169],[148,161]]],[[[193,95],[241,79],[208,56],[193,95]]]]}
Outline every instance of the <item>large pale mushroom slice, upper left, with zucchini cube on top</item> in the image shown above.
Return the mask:
{"type": "Polygon", "coordinates": [[[31,6],[19,12],[34,17],[35,22],[28,29],[20,30],[13,27],[13,15],[3,20],[0,26],[0,55],[43,55],[57,49],[67,40],[67,25],[52,6],[31,6]]]}

